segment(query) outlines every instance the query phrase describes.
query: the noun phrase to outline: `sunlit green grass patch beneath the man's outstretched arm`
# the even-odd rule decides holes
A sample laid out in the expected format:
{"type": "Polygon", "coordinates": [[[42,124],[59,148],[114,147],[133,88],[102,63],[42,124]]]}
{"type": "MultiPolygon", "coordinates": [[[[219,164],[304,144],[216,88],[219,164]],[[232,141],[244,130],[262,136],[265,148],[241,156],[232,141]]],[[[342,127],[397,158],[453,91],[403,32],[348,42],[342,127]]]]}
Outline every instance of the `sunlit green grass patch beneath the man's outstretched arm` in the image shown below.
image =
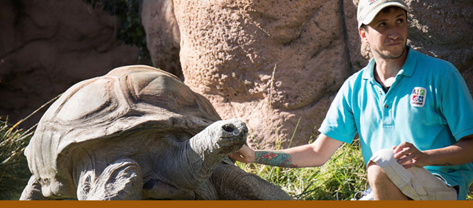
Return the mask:
{"type": "Polygon", "coordinates": [[[359,146],[344,144],[318,168],[281,168],[261,164],[236,165],[273,182],[294,200],[350,200],[367,188],[365,167],[359,146]]]}

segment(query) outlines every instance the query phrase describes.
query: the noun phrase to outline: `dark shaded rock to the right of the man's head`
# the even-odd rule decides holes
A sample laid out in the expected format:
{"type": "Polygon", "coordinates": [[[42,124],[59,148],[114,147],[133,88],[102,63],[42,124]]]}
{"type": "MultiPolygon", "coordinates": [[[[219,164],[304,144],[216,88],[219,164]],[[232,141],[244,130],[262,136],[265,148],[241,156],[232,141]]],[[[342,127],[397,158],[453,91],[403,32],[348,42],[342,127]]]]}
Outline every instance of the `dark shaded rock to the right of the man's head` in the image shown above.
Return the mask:
{"type": "Polygon", "coordinates": [[[473,1],[409,0],[415,50],[452,62],[473,94],[473,1]]]}

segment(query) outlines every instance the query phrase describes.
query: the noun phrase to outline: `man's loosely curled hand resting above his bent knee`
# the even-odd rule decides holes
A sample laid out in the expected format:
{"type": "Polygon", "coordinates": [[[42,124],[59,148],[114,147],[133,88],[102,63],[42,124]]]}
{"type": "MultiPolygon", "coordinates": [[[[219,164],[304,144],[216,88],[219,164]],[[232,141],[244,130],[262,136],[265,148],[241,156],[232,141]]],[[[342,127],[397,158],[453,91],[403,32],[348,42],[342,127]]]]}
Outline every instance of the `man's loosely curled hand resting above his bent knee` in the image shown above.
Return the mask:
{"type": "Polygon", "coordinates": [[[427,155],[418,150],[413,144],[406,141],[398,146],[393,146],[394,158],[397,162],[404,166],[404,168],[412,168],[413,166],[423,167],[427,155]]]}

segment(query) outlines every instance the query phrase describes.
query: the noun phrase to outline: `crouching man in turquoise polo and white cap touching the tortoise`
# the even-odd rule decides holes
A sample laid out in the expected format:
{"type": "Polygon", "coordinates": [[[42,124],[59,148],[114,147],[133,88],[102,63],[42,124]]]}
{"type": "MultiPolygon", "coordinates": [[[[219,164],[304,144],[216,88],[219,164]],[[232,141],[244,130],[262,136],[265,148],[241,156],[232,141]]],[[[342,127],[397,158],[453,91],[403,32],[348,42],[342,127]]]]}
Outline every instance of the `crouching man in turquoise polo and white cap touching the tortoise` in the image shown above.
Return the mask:
{"type": "Polygon", "coordinates": [[[241,162],[322,166],[359,134],[375,200],[465,200],[473,180],[473,101],[449,62],[406,46],[402,0],[361,0],[359,35],[374,58],[348,78],[313,144],[231,155],[241,162]]]}

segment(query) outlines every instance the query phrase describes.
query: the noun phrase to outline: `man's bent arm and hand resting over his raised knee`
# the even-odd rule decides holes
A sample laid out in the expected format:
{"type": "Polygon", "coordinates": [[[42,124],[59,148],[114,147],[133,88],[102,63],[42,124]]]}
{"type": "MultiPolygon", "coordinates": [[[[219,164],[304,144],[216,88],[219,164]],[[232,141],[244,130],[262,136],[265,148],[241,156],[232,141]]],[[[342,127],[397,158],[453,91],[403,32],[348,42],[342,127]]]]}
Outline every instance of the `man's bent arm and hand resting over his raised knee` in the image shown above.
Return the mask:
{"type": "Polygon", "coordinates": [[[454,145],[435,150],[420,151],[408,142],[403,142],[393,149],[395,159],[404,168],[465,164],[473,162],[473,135],[463,137],[454,145]]]}

